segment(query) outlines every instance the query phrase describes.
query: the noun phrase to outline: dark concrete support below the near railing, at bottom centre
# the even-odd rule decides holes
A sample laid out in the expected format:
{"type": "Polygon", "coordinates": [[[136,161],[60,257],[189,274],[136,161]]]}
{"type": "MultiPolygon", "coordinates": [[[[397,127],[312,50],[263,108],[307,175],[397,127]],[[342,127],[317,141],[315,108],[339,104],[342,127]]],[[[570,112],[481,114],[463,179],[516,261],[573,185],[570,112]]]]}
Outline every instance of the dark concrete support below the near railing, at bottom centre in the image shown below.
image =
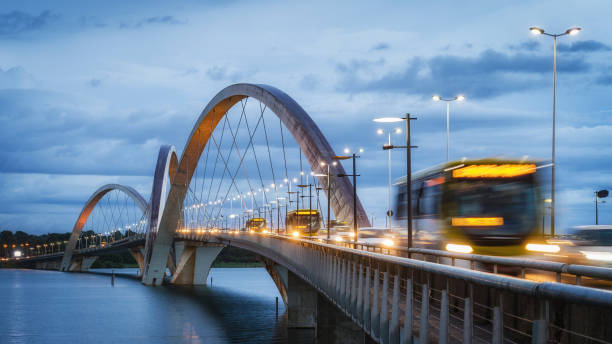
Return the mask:
{"type": "Polygon", "coordinates": [[[287,334],[289,343],[374,343],[325,296],[288,272],[287,334]]]}

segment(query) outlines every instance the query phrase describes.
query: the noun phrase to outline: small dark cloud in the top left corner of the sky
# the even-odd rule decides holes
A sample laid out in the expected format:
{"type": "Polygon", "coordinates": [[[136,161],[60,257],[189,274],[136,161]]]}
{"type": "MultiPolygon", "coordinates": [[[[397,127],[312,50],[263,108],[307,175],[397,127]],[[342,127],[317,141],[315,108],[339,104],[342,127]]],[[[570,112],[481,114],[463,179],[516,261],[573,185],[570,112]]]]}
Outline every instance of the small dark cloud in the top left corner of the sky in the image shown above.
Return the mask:
{"type": "Polygon", "coordinates": [[[39,15],[31,15],[21,11],[0,13],[0,37],[16,36],[29,31],[37,31],[55,22],[58,15],[50,11],[42,11],[39,15]]]}

